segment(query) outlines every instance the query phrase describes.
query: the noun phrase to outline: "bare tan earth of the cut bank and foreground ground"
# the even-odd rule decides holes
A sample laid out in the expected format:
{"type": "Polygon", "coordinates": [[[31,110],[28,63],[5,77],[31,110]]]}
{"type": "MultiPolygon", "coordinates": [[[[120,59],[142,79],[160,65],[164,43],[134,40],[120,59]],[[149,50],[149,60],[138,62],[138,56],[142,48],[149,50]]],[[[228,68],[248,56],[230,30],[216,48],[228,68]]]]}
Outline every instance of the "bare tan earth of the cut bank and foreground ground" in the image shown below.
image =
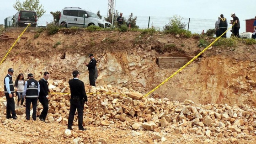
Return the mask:
{"type": "MultiPolygon", "coordinates": [[[[1,59],[4,58],[20,34],[21,31],[17,29],[2,33],[5,38],[0,38],[1,59]]],[[[160,69],[158,57],[181,56],[192,59],[203,50],[198,47],[200,37],[186,38],[182,35],[175,36],[160,32],[149,35],[140,32],[88,32],[63,29],[54,35],[43,32],[39,34],[39,37],[35,37],[36,34],[35,30],[27,30],[14,45],[5,61],[0,65],[2,80],[10,67],[14,68],[14,77],[19,73],[33,73],[37,80],[42,77],[44,71],[49,71],[50,79],[61,83],[62,86],[57,87],[59,90],[63,90],[64,83],[67,84],[67,81],[72,78],[71,72],[78,69],[82,74],[81,80],[86,84],[86,92],[89,93],[88,72],[84,63],[89,61],[88,54],[94,53],[99,69],[97,87],[115,85],[117,89],[126,87],[130,91],[139,91],[144,95],[179,69],[160,69]],[[168,44],[175,44],[176,47],[165,48],[168,44]],[[112,69],[110,69],[111,66],[112,69]]],[[[206,39],[209,42],[214,41],[214,38],[207,37],[206,39]]],[[[168,98],[171,101],[180,102],[188,99],[198,104],[198,107],[207,104],[228,104],[232,107],[254,108],[256,106],[255,57],[256,45],[238,43],[235,47],[213,46],[203,53],[200,59],[196,59],[148,97],[168,98]]],[[[3,83],[0,86],[4,87],[3,83]]],[[[63,91],[69,92],[69,89],[63,91]]],[[[60,91],[54,90],[54,92],[60,91]]],[[[104,99],[102,96],[101,98],[104,99]]],[[[109,99],[109,97],[105,98],[109,99]]],[[[62,97],[60,96],[59,99],[62,97]]],[[[101,105],[102,101],[92,101],[90,95],[88,95],[88,100],[87,108],[90,111],[95,111],[92,115],[102,112],[102,109],[95,108],[96,105],[101,105]]],[[[228,136],[213,136],[203,140],[197,136],[187,138],[184,133],[179,133],[175,129],[168,131],[165,136],[166,141],[161,141],[155,140],[155,136],[152,136],[154,131],[137,130],[140,134],[134,135],[132,128],[102,127],[94,124],[87,125],[88,130],[85,132],[75,129],[71,136],[66,136],[64,134],[65,123],[26,121],[24,114],[18,115],[17,120],[6,120],[3,104],[0,113],[2,122],[0,124],[0,142],[6,144],[69,144],[76,143],[75,138],[81,138],[77,140],[77,144],[256,143],[254,139],[246,138],[230,141],[227,140],[228,136]]],[[[101,113],[100,116],[102,115],[104,113],[101,113]]],[[[65,114],[64,117],[67,115],[65,114]]],[[[161,130],[158,129],[156,132],[160,133],[161,130]]]]}

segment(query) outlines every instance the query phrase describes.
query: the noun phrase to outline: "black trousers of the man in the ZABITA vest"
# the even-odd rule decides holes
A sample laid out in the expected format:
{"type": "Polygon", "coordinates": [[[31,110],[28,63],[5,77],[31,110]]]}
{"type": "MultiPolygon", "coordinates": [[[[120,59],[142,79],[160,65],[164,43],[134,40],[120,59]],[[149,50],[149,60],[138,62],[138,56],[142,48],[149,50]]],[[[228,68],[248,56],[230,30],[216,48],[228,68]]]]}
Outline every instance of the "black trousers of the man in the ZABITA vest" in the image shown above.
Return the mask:
{"type": "Polygon", "coordinates": [[[26,119],[30,119],[30,106],[32,103],[32,118],[35,121],[37,119],[37,98],[26,98],[26,119]]]}

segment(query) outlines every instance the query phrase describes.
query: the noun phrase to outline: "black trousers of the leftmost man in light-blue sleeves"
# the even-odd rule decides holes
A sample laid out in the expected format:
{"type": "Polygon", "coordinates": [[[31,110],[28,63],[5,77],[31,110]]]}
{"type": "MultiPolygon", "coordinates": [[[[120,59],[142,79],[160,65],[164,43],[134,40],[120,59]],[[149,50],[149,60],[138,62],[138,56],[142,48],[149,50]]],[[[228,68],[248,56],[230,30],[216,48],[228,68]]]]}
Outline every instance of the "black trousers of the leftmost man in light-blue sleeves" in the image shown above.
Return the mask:
{"type": "Polygon", "coordinates": [[[11,117],[16,117],[16,112],[15,112],[15,102],[13,99],[13,93],[12,98],[10,98],[9,93],[5,93],[6,97],[6,118],[11,118],[11,117]],[[12,115],[12,116],[11,116],[12,115]]]}

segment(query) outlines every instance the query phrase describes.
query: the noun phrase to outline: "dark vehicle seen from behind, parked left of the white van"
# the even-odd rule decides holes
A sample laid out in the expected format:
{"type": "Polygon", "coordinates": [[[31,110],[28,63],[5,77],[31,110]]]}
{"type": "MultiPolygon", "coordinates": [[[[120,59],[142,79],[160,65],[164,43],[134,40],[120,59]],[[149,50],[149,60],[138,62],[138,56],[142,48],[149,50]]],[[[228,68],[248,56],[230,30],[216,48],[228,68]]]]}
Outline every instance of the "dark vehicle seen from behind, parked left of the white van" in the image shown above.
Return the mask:
{"type": "Polygon", "coordinates": [[[35,11],[18,11],[13,17],[13,27],[37,27],[37,13],[35,11]]]}

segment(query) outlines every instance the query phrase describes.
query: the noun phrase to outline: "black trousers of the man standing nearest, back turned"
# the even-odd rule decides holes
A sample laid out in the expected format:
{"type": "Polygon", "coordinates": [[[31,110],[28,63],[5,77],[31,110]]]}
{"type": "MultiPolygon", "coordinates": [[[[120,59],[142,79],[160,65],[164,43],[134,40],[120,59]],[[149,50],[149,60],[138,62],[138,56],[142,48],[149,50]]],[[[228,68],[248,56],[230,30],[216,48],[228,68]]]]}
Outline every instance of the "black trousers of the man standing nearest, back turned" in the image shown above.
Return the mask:
{"type": "Polygon", "coordinates": [[[83,127],[84,105],[82,104],[81,100],[74,99],[74,98],[70,99],[68,128],[71,128],[73,125],[76,109],[78,113],[78,128],[81,129],[81,128],[84,128],[83,127]]]}

